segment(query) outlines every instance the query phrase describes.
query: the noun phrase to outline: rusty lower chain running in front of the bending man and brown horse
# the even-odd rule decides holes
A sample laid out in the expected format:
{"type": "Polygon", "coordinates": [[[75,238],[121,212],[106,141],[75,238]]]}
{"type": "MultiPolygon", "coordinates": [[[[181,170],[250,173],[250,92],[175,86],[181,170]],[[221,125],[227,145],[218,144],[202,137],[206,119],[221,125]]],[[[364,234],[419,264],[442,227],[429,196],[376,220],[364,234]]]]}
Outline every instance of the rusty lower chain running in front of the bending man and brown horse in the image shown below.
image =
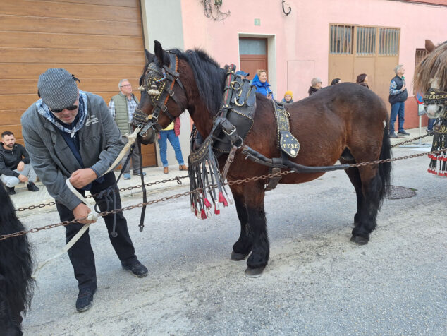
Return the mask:
{"type": "MultiPolygon", "coordinates": [[[[443,148],[442,150],[433,150],[431,152],[422,152],[419,154],[414,154],[414,155],[405,155],[405,156],[401,156],[401,157],[395,157],[393,159],[382,159],[382,160],[376,160],[376,161],[370,161],[370,162],[361,162],[361,163],[355,163],[355,164],[349,164],[349,167],[364,167],[364,166],[368,166],[368,165],[372,165],[372,164],[379,164],[379,163],[385,163],[385,162],[393,162],[393,161],[398,161],[398,160],[407,160],[407,159],[412,159],[414,157],[420,157],[420,156],[424,156],[424,155],[429,155],[429,154],[439,154],[440,152],[445,151],[446,149],[443,148]]],[[[258,180],[262,180],[262,179],[269,179],[271,177],[276,177],[276,176],[282,176],[282,175],[288,175],[288,174],[293,174],[295,173],[293,170],[286,170],[285,172],[278,172],[278,173],[271,173],[271,174],[267,174],[267,175],[261,175],[261,176],[253,176],[253,177],[247,177],[246,179],[239,179],[239,180],[235,180],[235,181],[229,181],[226,183],[226,185],[228,186],[233,186],[233,184],[243,184],[243,183],[247,183],[247,182],[252,182],[252,181],[258,181],[258,180]]],[[[176,178],[173,178],[173,180],[176,180],[176,178]]],[[[156,182],[153,182],[154,184],[156,182]]],[[[210,186],[209,188],[214,188],[215,186],[210,186]]],[[[128,188],[124,188],[125,190],[128,188]]],[[[191,193],[200,193],[202,190],[200,188],[197,188],[195,190],[192,191],[185,191],[185,193],[177,193],[176,195],[173,196],[166,196],[166,197],[162,197],[156,200],[149,200],[149,202],[146,203],[138,203],[137,205],[129,205],[127,207],[121,208],[121,209],[114,209],[111,211],[104,211],[104,212],[100,212],[99,214],[97,214],[98,216],[104,217],[106,215],[112,214],[112,213],[117,213],[117,212],[121,212],[121,211],[126,211],[126,210],[132,210],[135,208],[142,208],[143,205],[152,205],[155,203],[159,203],[159,202],[164,202],[166,200],[172,200],[174,198],[180,198],[182,196],[188,196],[191,193]]],[[[8,239],[8,238],[12,238],[15,236],[23,236],[24,234],[29,234],[29,233],[34,233],[34,232],[39,232],[42,230],[47,230],[47,229],[52,229],[54,227],[61,227],[61,226],[66,226],[68,224],[73,224],[73,223],[78,223],[82,220],[85,220],[87,217],[83,217],[83,218],[78,218],[77,220],[71,220],[71,221],[65,221],[65,222],[60,222],[57,224],[50,224],[50,225],[45,225],[44,227],[35,227],[33,229],[30,230],[26,230],[26,231],[20,231],[20,232],[15,232],[13,234],[4,234],[0,236],[0,241],[4,240],[4,239],[8,239]]]]}

